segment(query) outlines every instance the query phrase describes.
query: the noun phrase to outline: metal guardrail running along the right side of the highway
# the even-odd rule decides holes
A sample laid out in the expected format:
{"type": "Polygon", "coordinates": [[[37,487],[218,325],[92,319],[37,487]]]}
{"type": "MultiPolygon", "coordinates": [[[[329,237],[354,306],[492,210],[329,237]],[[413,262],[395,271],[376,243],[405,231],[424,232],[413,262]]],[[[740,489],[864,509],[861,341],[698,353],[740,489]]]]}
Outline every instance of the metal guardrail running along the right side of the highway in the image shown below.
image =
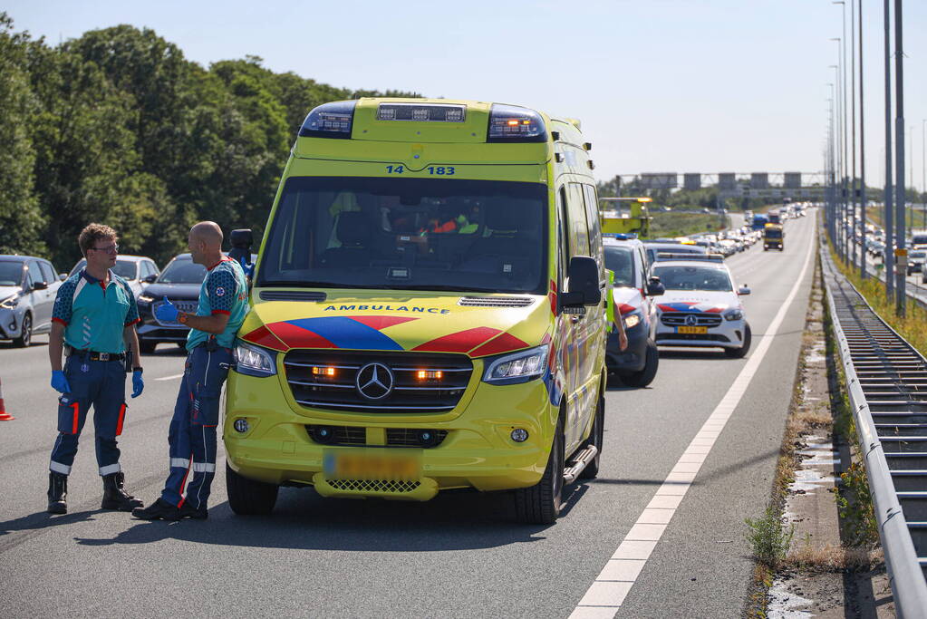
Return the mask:
{"type": "Polygon", "coordinates": [[[927,360],[872,311],[821,247],[895,611],[927,617],[927,360]]]}

